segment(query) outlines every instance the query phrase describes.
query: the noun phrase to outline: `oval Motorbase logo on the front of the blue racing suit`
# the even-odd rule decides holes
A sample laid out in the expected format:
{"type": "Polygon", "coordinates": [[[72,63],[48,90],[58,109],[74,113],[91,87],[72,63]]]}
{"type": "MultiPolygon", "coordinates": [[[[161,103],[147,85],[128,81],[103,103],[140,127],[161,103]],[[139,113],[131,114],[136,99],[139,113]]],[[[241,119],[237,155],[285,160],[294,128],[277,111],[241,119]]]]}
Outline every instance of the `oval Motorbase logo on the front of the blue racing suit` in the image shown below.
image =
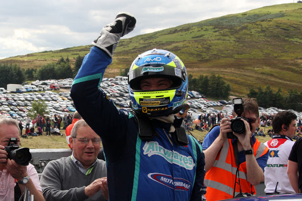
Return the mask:
{"type": "Polygon", "coordinates": [[[149,173],[148,177],[152,180],[159,182],[169,188],[180,190],[180,191],[189,191],[192,186],[192,183],[183,178],[173,178],[169,175],[164,175],[161,173],[149,173]]]}

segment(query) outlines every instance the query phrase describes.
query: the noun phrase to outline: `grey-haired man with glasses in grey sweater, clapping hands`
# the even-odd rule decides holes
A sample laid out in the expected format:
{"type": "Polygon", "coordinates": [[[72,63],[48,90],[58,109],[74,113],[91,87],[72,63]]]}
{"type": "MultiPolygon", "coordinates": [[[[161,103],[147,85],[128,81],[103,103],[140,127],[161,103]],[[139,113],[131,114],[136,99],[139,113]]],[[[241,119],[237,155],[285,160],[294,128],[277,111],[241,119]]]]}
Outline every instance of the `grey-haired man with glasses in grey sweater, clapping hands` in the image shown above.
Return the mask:
{"type": "Polygon", "coordinates": [[[69,138],[72,155],[51,161],[41,176],[46,201],[108,200],[105,161],[97,159],[100,137],[79,120],[69,138]]]}

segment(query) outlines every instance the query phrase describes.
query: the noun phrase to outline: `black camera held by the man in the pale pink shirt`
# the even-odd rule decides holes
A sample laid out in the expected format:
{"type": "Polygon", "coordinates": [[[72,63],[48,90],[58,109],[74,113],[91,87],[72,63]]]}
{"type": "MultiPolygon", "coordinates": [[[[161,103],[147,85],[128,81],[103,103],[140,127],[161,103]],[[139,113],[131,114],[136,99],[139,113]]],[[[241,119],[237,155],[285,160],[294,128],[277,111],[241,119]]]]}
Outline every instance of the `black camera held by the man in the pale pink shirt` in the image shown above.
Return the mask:
{"type": "Polygon", "coordinates": [[[4,148],[8,153],[7,157],[16,161],[17,164],[27,166],[31,160],[31,153],[28,148],[19,148],[17,138],[11,137],[8,141],[8,146],[4,148]]]}

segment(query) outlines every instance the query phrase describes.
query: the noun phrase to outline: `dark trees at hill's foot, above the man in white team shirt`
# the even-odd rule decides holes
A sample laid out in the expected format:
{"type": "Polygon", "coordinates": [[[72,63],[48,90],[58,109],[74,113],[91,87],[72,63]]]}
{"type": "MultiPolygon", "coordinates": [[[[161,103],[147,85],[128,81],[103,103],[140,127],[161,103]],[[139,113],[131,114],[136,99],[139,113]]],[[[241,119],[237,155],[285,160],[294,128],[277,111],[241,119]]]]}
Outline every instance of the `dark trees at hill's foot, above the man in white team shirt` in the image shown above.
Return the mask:
{"type": "Polygon", "coordinates": [[[287,96],[281,94],[281,88],[274,93],[271,86],[265,89],[261,87],[250,88],[247,94],[249,98],[257,99],[258,105],[264,108],[277,107],[280,109],[293,109],[302,111],[302,92],[290,89],[287,96]]]}

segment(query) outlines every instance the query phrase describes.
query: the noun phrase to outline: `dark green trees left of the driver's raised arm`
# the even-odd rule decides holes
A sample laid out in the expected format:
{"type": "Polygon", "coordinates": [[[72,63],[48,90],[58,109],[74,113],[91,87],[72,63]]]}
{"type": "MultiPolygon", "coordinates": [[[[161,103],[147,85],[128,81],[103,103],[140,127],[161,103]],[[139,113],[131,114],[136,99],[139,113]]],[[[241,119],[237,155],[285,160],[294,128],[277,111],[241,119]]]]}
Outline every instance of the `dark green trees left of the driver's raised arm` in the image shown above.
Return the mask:
{"type": "Polygon", "coordinates": [[[46,80],[72,78],[78,73],[83,56],[76,58],[75,67],[71,68],[69,58],[61,57],[56,63],[49,63],[39,69],[21,69],[16,64],[0,64],[0,87],[7,84],[22,84],[25,80],[46,80]]]}

